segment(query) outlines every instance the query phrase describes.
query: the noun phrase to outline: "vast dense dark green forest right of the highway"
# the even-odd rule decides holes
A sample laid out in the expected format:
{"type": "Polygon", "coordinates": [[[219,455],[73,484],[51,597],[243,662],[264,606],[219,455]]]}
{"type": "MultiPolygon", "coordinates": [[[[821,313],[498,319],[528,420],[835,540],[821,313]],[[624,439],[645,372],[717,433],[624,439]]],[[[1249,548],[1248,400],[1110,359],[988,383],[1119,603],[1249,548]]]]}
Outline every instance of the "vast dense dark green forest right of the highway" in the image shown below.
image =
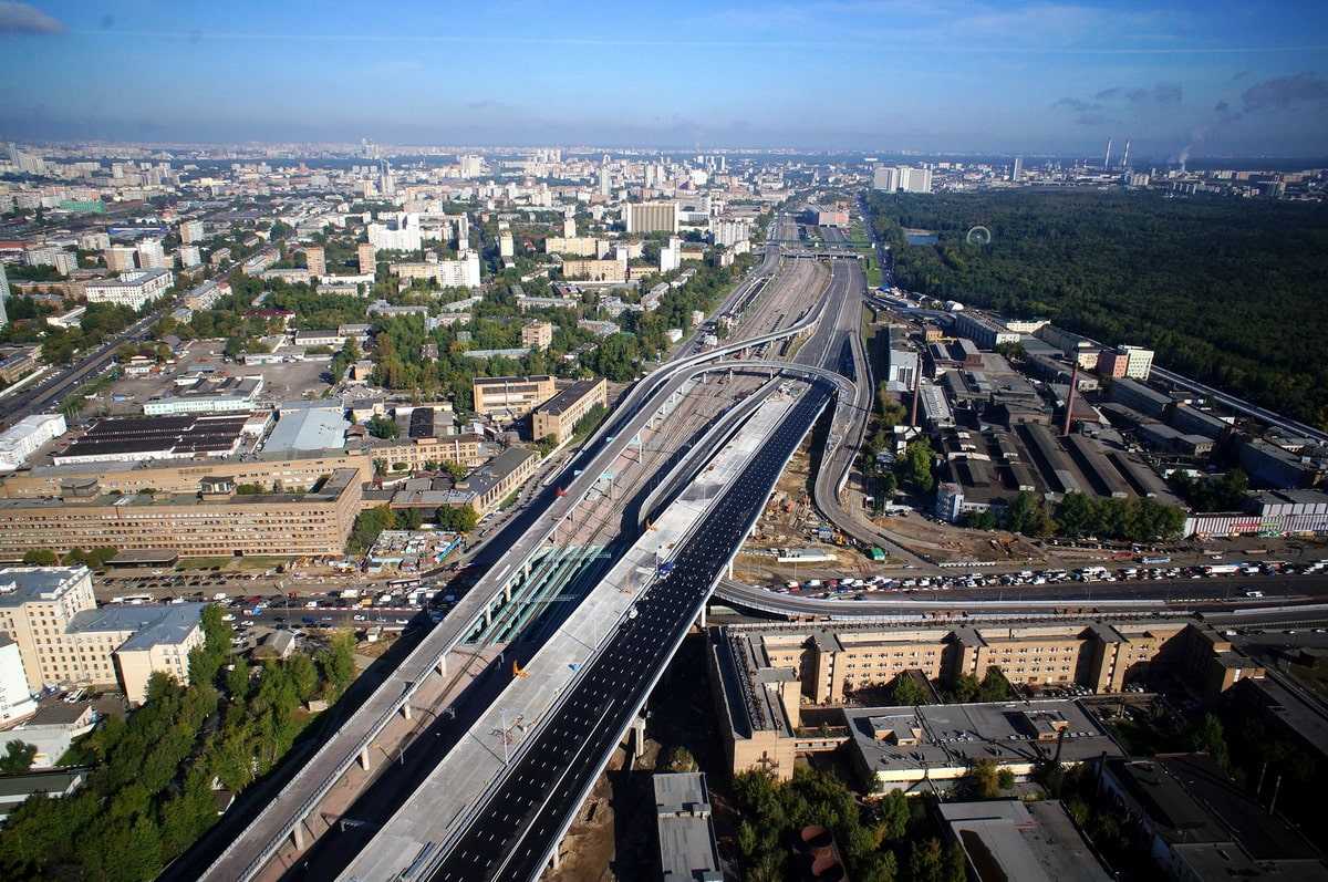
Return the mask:
{"type": "Polygon", "coordinates": [[[1328,428],[1324,206],[1031,190],[869,206],[902,288],[1151,347],[1163,367],[1328,428]],[[964,243],[977,224],[991,244],[964,243]],[[908,246],[904,227],[939,242],[908,246]]]}

